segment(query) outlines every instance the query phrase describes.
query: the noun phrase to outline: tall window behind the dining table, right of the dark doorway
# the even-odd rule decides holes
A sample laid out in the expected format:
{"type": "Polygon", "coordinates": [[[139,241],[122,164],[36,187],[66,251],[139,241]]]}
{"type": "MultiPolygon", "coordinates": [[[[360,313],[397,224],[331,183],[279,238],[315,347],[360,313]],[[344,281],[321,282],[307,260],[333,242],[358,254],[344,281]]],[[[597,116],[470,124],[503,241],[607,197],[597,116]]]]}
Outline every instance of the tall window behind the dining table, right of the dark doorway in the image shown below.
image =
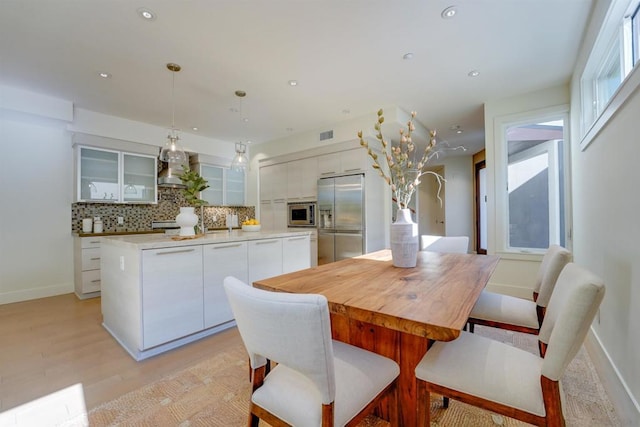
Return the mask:
{"type": "Polygon", "coordinates": [[[499,119],[497,241],[502,253],[568,245],[567,112],[556,108],[499,119]]]}

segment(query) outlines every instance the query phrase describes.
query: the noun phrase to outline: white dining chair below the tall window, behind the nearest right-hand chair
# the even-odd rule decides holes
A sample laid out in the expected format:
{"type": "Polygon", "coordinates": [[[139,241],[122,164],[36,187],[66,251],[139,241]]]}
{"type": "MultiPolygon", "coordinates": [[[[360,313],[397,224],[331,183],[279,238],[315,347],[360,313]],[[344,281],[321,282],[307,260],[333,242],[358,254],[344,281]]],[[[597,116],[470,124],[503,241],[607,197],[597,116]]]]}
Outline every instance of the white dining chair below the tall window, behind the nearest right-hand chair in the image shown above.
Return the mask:
{"type": "Polygon", "coordinates": [[[571,258],[571,252],[562,246],[549,246],[538,269],[533,301],[482,291],[469,315],[469,330],[473,332],[474,325],[484,325],[538,334],[558,276],[571,258]]]}

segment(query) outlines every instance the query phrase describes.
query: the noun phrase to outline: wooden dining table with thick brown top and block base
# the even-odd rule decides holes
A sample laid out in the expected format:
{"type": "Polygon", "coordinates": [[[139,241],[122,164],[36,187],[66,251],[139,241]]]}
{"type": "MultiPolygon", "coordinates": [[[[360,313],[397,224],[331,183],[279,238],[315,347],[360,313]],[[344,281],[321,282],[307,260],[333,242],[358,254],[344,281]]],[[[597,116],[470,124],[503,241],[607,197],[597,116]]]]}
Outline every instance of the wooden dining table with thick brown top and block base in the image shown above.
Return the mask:
{"type": "Polygon", "coordinates": [[[400,425],[415,426],[416,365],[432,340],[460,335],[497,264],[498,257],[491,255],[423,251],[416,267],[398,268],[386,249],[258,280],[253,286],[324,295],[334,339],[398,362],[400,425]]]}

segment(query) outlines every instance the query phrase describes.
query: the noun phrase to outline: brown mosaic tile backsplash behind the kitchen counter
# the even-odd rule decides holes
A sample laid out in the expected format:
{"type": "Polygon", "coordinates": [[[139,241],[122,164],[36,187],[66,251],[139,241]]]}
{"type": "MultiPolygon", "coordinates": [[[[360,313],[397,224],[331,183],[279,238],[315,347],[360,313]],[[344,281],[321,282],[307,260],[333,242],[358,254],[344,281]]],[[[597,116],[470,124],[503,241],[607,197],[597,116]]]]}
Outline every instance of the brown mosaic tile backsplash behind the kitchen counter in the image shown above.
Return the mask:
{"type": "MultiPolygon", "coordinates": [[[[117,231],[149,231],[152,221],[173,220],[181,206],[189,206],[180,189],[158,188],[158,204],[73,203],[71,205],[71,231],[82,231],[82,219],[99,216],[105,233],[117,231]],[[124,224],[118,224],[118,217],[124,224]]],[[[255,218],[254,206],[204,206],[204,224],[209,229],[225,228],[227,214],[237,214],[238,220],[255,218]],[[214,221],[215,217],[215,221],[214,221]]],[[[200,217],[202,210],[196,208],[200,217]]]]}

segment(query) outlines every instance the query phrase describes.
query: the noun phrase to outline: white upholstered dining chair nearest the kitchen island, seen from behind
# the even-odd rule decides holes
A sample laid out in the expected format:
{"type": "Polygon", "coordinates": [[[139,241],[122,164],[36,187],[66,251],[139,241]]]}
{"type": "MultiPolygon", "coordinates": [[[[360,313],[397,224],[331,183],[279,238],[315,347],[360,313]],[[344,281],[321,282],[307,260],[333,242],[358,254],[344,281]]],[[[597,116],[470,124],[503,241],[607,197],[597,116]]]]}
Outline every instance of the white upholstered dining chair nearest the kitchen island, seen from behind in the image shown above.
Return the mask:
{"type": "Polygon", "coordinates": [[[250,426],[352,426],[383,398],[397,425],[398,364],[333,341],[324,296],[268,292],[234,277],[224,287],[253,371],[250,426]],[[267,358],[277,365],[265,374],[267,358]]]}

